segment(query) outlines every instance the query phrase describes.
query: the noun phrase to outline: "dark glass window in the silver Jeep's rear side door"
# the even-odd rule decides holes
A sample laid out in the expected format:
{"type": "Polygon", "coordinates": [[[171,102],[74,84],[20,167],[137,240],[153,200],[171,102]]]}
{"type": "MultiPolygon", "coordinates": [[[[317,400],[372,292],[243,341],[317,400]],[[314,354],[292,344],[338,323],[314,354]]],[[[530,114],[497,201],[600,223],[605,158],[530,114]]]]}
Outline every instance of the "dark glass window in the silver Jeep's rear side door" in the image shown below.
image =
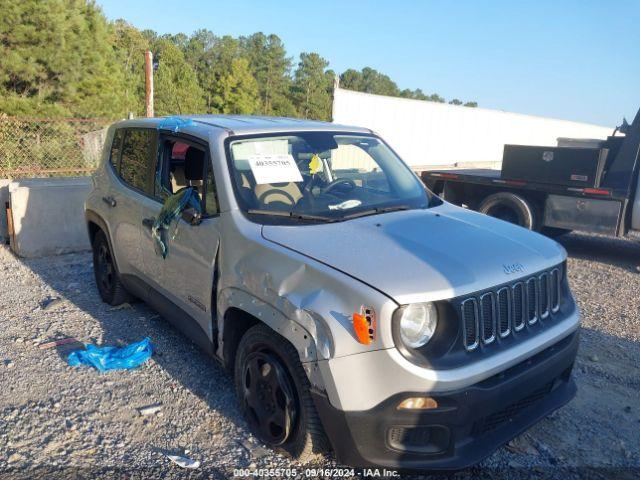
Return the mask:
{"type": "MultiPolygon", "coordinates": [[[[120,177],[134,188],[149,190],[151,148],[154,139],[153,130],[128,130],[122,143],[120,177]]],[[[154,159],[155,160],[155,159],[154,159]]]]}

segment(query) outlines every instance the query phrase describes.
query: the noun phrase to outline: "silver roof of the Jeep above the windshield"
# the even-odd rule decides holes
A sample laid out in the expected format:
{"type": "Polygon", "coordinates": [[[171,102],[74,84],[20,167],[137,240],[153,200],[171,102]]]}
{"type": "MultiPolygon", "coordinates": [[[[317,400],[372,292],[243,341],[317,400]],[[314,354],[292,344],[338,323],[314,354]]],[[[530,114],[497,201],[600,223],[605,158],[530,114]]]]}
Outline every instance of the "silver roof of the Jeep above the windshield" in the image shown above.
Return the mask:
{"type": "MultiPolygon", "coordinates": [[[[173,130],[220,130],[227,135],[250,135],[257,133],[334,131],[372,133],[362,127],[339,125],[317,120],[254,115],[177,115],[171,117],[136,118],[118,122],[118,127],[146,127],[173,130]]],[[[195,132],[194,132],[195,133],[195,132]]],[[[202,132],[204,133],[204,132],[202,132]]]]}

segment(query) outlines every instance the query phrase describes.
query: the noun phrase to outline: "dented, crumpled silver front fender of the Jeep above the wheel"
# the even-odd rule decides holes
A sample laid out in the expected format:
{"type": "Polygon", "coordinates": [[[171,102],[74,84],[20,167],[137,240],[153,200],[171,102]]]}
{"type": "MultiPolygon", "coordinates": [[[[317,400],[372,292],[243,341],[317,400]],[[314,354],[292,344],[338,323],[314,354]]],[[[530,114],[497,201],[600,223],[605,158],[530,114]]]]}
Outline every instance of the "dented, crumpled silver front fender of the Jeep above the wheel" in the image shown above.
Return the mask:
{"type": "Polygon", "coordinates": [[[398,307],[394,301],[357,279],[265,240],[261,227],[238,211],[224,217],[219,318],[222,308],[236,306],[252,310],[249,313],[267,324],[281,325],[276,331],[292,341],[303,362],[393,346],[391,316],[398,307]],[[357,341],[352,325],[353,313],[363,305],[376,312],[377,331],[370,345],[357,341]],[[301,335],[294,334],[294,326],[303,330],[301,335]]]}

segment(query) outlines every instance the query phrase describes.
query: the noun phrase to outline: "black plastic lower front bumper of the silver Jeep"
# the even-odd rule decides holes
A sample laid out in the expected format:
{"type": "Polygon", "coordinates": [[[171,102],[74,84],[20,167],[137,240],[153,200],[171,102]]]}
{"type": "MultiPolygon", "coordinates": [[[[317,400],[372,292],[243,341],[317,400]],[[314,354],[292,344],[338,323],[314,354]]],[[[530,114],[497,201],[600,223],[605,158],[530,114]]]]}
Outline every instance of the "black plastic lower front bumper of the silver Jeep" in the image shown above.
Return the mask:
{"type": "MultiPolygon", "coordinates": [[[[447,393],[406,392],[366,411],[341,411],[314,392],[338,461],[357,467],[456,470],[478,463],[573,398],[574,332],[475,385],[447,393]],[[431,395],[439,407],[399,411],[405,398],[431,395]]],[[[380,381],[384,381],[381,379],[380,381]]]]}

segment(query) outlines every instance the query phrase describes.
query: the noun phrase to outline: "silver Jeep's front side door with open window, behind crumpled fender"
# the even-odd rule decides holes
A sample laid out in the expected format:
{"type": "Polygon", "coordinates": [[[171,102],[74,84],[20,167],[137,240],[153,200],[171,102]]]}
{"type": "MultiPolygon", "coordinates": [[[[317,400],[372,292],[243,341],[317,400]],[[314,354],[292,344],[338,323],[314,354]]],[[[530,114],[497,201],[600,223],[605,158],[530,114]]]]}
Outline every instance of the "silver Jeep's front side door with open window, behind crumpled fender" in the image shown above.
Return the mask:
{"type": "MultiPolygon", "coordinates": [[[[144,268],[152,287],[196,321],[178,325],[190,335],[212,338],[213,281],[220,242],[218,202],[208,145],[180,135],[161,135],[155,173],[154,199],[143,203],[143,217],[150,226],[167,196],[182,187],[195,186],[200,194],[203,220],[193,226],[178,218],[167,235],[167,256],[155,247],[151,228],[143,228],[141,246],[144,268]],[[193,327],[197,329],[193,329],[193,327]]],[[[177,320],[177,319],[173,319],[177,320]]],[[[180,320],[180,321],[189,321],[180,320]]],[[[202,338],[194,338],[200,341],[202,338]]]]}

